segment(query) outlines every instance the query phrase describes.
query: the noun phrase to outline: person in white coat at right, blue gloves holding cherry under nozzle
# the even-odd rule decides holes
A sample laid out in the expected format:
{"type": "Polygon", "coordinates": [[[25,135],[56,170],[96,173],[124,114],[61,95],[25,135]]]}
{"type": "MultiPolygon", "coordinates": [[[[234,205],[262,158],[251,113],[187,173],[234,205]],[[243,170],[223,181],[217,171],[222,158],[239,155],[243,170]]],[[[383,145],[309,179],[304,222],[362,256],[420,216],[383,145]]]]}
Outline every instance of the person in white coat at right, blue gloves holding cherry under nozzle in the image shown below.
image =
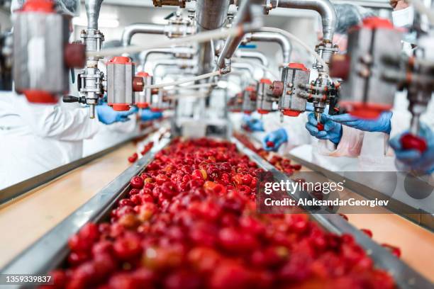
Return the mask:
{"type": "MultiPolygon", "coordinates": [[[[404,28],[411,26],[413,8],[408,4],[401,4],[401,1],[397,2],[394,7],[400,10],[394,11],[395,25],[404,28]],[[404,12],[401,11],[403,9],[404,12]]],[[[411,39],[411,36],[404,38],[408,41],[411,39]]],[[[411,48],[411,44],[404,43],[404,49],[411,48]]],[[[434,126],[433,115],[434,107],[431,101],[427,111],[421,116],[421,122],[428,128],[434,126]]],[[[308,120],[306,128],[311,135],[322,140],[323,154],[335,157],[357,157],[360,171],[395,171],[395,156],[389,147],[389,137],[401,135],[408,129],[411,113],[408,112],[405,94],[398,93],[392,111],[382,113],[377,120],[357,119],[349,114],[323,115],[321,122],[325,124],[325,129],[321,132],[316,128],[317,122],[313,115],[309,115],[308,120]],[[330,148],[330,142],[334,147],[330,148]]],[[[426,135],[429,135],[428,132],[426,135]]]]}

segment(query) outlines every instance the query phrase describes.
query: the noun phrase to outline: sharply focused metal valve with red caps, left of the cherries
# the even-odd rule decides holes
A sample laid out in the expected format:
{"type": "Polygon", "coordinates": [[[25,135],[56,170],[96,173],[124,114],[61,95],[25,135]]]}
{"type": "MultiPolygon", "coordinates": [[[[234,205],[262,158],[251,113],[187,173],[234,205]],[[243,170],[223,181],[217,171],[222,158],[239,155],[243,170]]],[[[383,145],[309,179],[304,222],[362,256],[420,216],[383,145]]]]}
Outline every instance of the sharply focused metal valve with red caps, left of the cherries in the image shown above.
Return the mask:
{"type": "Polygon", "coordinates": [[[135,64],[129,57],[116,56],[107,63],[107,102],[114,111],[128,111],[135,92],[143,91],[143,77],[135,77],[135,64]]]}

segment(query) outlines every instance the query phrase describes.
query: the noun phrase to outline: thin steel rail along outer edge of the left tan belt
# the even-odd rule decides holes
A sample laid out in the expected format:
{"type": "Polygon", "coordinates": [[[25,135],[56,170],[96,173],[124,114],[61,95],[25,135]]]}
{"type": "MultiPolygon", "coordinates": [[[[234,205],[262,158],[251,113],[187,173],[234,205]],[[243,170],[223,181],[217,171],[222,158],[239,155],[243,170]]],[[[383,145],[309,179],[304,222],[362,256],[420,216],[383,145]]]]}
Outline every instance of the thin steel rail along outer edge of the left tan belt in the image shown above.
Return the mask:
{"type": "Polygon", "coordinates": [[[29,191],[33,190],[33,188],[42,186],[43,184],[48,183],[58,178],[59,176],[62,176],[63,174],[66,174],[68,171],[72,171],[73,169],[77,169],[79,166],[87,164],[93,161],[94,159],[103,157],[104,155],[109,154],[109,152],[113,152],[115,149],[118,149],[118,147],[121,147],[125,145],[127,142],[130,142],[131,140],[135,139],[136,137],[148,135],[150,132],[152,132],[152,130],[154,130],[154,128],[146,128],[145,130],[143,130],[142,133],[140,133],[140,135],[135,135],[133,137],[130,137],[128,140],[120,142],[114,145],[113,147],[104,149],[101,152],[96,152],[95,154],[91,154],[88,157],[77,159],[77,161],[70,162],[69,164],[65,164],[63,166],[59,166],[56,169],[52,169],[38,176],[34,176],[33,178],[27,179],[26,181],[22,181],[8,188],[4,188],[3,190],[0,191],[0,205],[9,202],[9,200],[12,200],[13,198],[17,198],[19,196],[22,196],[25,193],[28,193],[29,191]]]}

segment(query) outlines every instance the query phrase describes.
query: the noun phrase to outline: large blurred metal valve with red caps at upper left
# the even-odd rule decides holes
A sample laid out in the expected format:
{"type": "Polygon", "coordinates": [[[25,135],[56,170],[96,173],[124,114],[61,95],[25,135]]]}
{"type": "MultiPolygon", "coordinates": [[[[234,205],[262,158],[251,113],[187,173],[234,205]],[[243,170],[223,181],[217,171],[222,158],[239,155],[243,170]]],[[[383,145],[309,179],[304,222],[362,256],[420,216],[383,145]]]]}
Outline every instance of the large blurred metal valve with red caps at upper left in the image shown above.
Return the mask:
{"type": "Polygon", "coordinates": [[[53,1],[28,0],[16,15],[13,80],[33,103],[57,103],[69,92],[69,69],[84,67],[85,47],[68,43],[69,20],[53,1]]]}

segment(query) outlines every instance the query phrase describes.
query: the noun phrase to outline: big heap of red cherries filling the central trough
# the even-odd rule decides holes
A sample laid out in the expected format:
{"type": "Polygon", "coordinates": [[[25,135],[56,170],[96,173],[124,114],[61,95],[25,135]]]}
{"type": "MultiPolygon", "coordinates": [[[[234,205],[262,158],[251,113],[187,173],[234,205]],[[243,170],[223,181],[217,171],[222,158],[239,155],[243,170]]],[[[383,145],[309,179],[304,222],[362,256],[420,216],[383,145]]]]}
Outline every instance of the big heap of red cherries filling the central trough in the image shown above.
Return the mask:
{"type": "Polygon", "coordinates": [[[55,288],[394,288],[350,235],[258,214],[260,171],[229,142],[174,140],[69,239],[55,288]]]}

